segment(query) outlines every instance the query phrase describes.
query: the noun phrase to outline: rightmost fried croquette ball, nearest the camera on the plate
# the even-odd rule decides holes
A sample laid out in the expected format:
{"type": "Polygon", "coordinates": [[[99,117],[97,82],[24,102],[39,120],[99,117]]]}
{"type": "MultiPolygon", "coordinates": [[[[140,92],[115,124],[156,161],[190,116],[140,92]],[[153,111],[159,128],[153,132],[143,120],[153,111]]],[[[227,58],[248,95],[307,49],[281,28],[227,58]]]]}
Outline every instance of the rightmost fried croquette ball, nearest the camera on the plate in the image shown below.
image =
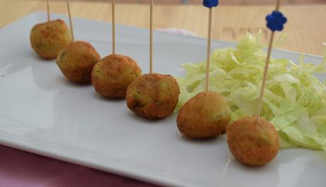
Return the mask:
{"type": "Polygon", "coordinates": [[[279,152],[279,135],[269,121],[247,116],[227,127],[227,145],[243,164],[262,166],[279,152]]]}

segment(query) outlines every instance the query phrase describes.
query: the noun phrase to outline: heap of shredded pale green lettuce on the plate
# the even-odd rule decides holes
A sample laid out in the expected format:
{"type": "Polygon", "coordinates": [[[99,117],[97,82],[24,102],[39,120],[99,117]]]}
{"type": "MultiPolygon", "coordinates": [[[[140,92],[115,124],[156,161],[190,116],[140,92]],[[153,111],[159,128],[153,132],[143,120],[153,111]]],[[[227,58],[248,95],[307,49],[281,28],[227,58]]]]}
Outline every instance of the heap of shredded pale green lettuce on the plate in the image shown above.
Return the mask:
{"type": "MultiPolygon", "coordinates": [[[[254,115],[266,60],[262,32],[246,33],[235,49],[215,49],[210,61],[210,90],[219,92],[232,109],[232,121],[254,115]]],[[[281,42],[281,38],[278,42],[281,42]]],[[[326,54],[326,51],[325,51],[326,54]]],[[[326,72],[326,56],[319,65],[271,59],[262,117],[279,131],[281,147],[326,150],[326,86],[313,76],[326,72]]],[[[177,109],[202,92],[206,62],[183,64],[186,75],[177,78],[181,94],[177,109]]]]}

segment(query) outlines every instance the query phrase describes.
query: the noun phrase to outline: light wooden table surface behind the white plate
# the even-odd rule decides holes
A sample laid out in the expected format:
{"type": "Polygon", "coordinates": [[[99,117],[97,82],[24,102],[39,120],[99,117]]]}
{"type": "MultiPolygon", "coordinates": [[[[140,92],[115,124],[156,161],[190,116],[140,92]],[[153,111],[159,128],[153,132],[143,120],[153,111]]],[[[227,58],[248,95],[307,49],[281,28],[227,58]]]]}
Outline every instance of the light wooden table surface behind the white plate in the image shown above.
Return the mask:
{"type": "MultiPolygon", "coordinates": [[[[67,13],[65,1],[52,1],[51,11],[67,13]]],[[[219,6],[213,11],[213,38],[237,41],[245,31],[263,30],[264,40],[269,35],[264,20],[274,6],[219,6]]],[[[45,1],[0,1],[0,28],[33,11],[45,11],[45,1]]],[[[72,15],[89,20],[108,21],[108,3],[101,1],[72,1],[72,15]]],[[[149,6],[145,4],[118,4],[116,23],[148,28],[149,6]]],[[[326,42],[326,5],[285,5],[281,11],[288,23],[282,33],[288,35],[279,47],[306,54],[322,56],[326,42]]],[[[156,5],[154,28],[183,28],[205,37],[208,10],[201,5],[156,5]]],[[[26,31],[29,32],[29,31],[26,31]]],[[[280,33],[276,34],[276,38],[280,33]]],[[[0,41],[1,42],[1,41],[0,41]]]]}

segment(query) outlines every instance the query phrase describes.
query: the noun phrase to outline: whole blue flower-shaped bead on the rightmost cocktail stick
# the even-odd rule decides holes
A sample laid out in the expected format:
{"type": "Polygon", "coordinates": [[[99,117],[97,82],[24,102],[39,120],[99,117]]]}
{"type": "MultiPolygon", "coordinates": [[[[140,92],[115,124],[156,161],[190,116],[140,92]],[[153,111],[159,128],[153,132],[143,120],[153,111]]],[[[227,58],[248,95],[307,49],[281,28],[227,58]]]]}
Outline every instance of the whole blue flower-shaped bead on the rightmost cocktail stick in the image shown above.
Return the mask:
{"type": "Polygon", "coordinates": [[[286,23],[287,19],[280,11],[273,11],[266,16],[266,21],[267,28],[274,32],[275,30],[283,30],[283,25],[286,23]]]}

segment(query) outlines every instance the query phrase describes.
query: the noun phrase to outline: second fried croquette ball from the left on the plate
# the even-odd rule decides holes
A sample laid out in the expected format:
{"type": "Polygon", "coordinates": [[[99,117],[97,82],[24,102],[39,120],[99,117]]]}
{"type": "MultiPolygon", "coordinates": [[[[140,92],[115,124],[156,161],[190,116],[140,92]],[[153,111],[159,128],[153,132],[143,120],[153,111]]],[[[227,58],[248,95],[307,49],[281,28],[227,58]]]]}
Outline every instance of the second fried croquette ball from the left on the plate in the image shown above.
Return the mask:
{"type": "Polygon", "coordinates": [[[62,49],[57,65],[68,80],[91,83],[91,71],[100,60],[101,56],[89,42],[77,41],[62,49]]]}

